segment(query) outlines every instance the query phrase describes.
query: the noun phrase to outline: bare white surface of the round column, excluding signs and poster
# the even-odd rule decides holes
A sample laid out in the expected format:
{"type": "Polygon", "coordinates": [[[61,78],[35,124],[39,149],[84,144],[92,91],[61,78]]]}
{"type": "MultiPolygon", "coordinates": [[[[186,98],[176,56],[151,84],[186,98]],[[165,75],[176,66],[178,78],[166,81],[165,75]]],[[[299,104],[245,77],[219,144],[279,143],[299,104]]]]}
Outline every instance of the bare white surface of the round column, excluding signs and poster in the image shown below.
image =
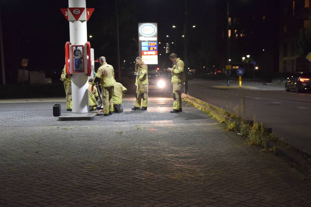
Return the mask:
{"type": "MultiPolygon", "coordinates": [[[[86,8],[86,0],[68,0],[68,5],[69,7],[86,8]]],[[[80,21],[69,22],[69,32],[70,42],[73,45],[84,45],[87,42],[86,21],[83,23],[80,21]]],[[[71,75],[73,113],[87,113],[89,111],[87,80],[85,73],[71,75]]]]}

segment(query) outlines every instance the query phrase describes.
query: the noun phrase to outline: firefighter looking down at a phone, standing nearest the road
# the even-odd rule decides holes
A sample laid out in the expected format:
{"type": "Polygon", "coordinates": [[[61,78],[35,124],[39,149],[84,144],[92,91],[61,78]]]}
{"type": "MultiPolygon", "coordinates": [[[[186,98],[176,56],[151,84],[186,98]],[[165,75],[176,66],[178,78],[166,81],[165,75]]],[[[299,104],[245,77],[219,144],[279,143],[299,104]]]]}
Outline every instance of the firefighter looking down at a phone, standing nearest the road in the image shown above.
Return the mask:
{"type": "Polygon", "coordinates": [[[172,74],[171,82],[173,84],[173,111],[171,113],[182,112],[181,106],[181,84],[185,81],[185,75],[183,73],[184,63],[180,58],[177,58],[175,53],[169,55],[169,59],[173,62],[173,68],[168,68],[168,71],[172,74]]]}

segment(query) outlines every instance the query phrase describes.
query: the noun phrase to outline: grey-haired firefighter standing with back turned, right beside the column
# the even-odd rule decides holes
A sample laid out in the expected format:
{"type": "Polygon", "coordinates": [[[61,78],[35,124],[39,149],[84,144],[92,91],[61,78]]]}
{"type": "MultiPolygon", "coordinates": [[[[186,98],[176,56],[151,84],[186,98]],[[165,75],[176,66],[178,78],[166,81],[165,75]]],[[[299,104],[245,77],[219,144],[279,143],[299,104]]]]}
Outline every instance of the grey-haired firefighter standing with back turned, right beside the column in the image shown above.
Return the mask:
{"type": "Polygon", "coordinates": [[[100,67],[97,70],[95,78],[92,82],[94,86],[96,82],[100,81],[101,94],[104,99],[104,116],[112,115],[114,109],[113,92],[114,92],[114,67],[107,64],[106,58],[101,56],[99,58],[100,67]]]}

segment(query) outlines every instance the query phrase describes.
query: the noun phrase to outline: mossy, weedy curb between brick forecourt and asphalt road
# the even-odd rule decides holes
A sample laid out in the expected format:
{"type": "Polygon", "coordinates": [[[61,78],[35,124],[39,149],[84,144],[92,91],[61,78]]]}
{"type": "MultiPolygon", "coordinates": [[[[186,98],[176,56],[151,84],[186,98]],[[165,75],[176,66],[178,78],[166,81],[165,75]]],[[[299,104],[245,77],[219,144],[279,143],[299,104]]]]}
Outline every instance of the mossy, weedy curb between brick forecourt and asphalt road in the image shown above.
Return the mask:
{"type": "MultiPolygon", "coordinates": [[[[187,102],[190,102],[193,106],[200,108],[202,111],[206,112],[208,115],[216,118],[220,123],[226,123],[228,121],[235,122],[238,128],[241,126],[240,117],[234,116],[232,113],[218,108],[212,104],[204,102],[200,99],[197,99],[193,96],[182,93],[182,98],[187,102]],[[235,118],[234,118],[235,117],[235,118]]],[[[253,125],[253,121],[245,120],[244,124],[248,124],[249,126],[253,125]]],[[[271,128],[263,128],[264,134],[272,134],[271,128]]],[[[311,176],[311,154],[302,149],[291,146],[288,143],[284,143],[287,145],[284,149],[281,147],[279,143],[276,141],[268,141],[267,142],[267,150],[273,151],[274,154],[278,157],[283,158],[288,164],[294,167],[296,170],[301,172],[306,176],[311,176]]]]}

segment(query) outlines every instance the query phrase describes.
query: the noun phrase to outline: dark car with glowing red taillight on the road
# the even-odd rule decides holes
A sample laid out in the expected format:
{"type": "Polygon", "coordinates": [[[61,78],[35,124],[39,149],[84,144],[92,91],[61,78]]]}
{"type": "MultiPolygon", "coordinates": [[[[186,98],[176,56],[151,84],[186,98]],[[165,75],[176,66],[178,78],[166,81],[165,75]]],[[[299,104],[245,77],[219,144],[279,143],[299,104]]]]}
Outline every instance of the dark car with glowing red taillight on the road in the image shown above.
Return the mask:
{"type": "Polygon", "coordinates": [[[295,90],[297,93],[311,91],[311,72],[297,72],[288,77],[285,83],[285,90],[295,90]]]}

